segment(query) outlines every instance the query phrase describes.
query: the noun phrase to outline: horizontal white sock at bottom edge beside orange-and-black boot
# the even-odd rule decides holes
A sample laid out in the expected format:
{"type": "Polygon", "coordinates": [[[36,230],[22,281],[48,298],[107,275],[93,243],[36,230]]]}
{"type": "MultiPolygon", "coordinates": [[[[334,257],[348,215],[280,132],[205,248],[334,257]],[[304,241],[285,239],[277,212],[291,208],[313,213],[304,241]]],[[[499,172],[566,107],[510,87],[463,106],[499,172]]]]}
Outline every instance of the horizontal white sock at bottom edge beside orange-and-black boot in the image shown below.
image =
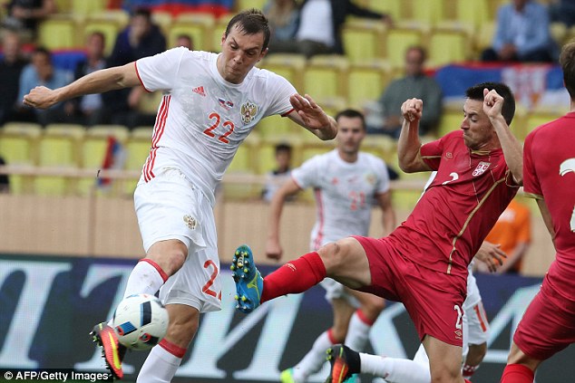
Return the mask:
{"type": "Polygon", "coordinates": [[[410,359],[386,358],[360,353],[361,372],[385,378],[388,383],[429,383],[429,368],[410,359]]]}

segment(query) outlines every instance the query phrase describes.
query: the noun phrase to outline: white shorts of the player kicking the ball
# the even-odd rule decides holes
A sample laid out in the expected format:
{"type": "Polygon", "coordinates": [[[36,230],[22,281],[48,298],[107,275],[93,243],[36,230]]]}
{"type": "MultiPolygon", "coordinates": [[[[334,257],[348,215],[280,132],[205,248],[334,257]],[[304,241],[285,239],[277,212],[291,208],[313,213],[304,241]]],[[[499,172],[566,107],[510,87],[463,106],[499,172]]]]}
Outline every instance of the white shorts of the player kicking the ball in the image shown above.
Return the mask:
{"type": "Polygon", "coordinates": [[[218,237],[213,208],[199,187],[175,168],[150,182],[140,179],[134,205],[146,253],[152,244],[178,239],[188,247],[181,269],[160,289],[164,304],[186,304],[200,312],[221,309],[218,237]]]}

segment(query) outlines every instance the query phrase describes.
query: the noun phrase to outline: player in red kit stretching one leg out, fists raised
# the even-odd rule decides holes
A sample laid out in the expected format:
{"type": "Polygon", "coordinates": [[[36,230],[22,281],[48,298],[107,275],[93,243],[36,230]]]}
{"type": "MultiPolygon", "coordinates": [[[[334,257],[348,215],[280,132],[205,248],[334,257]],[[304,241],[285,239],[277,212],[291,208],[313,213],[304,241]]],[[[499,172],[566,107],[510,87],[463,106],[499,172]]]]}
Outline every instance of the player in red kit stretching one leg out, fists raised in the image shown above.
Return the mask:
{"type": "MultiPolygon", "coordinates": [[[[330,277],[403,302],[429,356],[432,382],[462,383],[467,265],[522,183],[521,144],[509,129],[515,102],[502,83],[473,86],[466,91],[461,129],[423,146],[418,137],[423,102],[407,100],[401,110],[400,167],[437,170],[414,212],[385,238],[352,236],[326,244],[265,279],[249,247],[240,246],[232,262],[238,309],[252,311],[260,302],[304,292],[330,277]]],[[[336,383],[362,363],[339,346],[331,358],[328,381],[336,383]]]]}

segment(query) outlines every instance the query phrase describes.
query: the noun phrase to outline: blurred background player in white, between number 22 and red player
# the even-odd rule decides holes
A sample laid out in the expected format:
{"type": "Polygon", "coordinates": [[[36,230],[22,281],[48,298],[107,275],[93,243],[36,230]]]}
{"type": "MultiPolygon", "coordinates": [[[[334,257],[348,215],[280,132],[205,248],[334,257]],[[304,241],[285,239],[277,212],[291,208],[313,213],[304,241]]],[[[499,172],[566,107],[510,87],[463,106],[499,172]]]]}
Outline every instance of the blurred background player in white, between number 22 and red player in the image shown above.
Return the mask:
{"type": "MultiPolygon", "coordinates": [[[[307,187],[314,189],[316,197],[316,224],[310,241],[312,251],[349,235],[367,235],[374,205],[383,211],[383,235],[395,228],[385,162],[359,151],[366,134],[364,115],[357,110],[342,110],[336,115],[336,123],[336,148],[292,170],[291,178],[272,198],[266,245],[268,258],[278,260],[283,253],[279,221],[286,198],[307,187]]],[[[283,383],[307,381],[326,362],[326,349],[333,344],[345,340],[350,347],[364,349],[369,330],[385,307],[383,298],[356,292],[332,279],[320,284],[326,289],[327,301],[332,304],[333,326],[317,338],[312,349],[294,368],[282,372],[283,383]]]]}

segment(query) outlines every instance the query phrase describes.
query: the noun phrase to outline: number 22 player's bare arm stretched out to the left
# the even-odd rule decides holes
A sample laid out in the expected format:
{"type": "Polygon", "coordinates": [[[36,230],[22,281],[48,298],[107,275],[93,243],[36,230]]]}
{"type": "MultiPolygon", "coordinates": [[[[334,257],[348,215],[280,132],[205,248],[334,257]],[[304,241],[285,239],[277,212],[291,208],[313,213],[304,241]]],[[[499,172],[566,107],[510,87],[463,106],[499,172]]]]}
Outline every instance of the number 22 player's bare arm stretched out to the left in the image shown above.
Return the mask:
{"type": "Polygon", "coordinates": [[[47,109],[60,101],[73,99],[84,94],[115,91],[140,85],[134,62],[101,71],[92,72],[58,89],[37,86],[24,96],[24,105],[47,109]]]}

